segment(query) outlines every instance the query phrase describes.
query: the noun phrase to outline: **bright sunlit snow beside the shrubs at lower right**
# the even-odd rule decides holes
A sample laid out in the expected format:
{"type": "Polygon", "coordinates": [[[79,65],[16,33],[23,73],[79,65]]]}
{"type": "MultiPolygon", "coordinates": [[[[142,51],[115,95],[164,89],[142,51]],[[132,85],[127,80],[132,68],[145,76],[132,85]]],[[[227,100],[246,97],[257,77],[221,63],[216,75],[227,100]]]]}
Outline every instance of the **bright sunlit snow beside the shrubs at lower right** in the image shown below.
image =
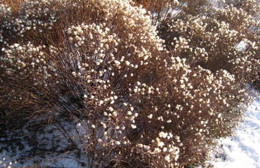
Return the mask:
{"type": "Polygon", "coordinates": [[[256,98],[245,112],[234,136],[221,138],[211,151],[207,164],[216,168],[260,168],[260,100],[256,98]]]}

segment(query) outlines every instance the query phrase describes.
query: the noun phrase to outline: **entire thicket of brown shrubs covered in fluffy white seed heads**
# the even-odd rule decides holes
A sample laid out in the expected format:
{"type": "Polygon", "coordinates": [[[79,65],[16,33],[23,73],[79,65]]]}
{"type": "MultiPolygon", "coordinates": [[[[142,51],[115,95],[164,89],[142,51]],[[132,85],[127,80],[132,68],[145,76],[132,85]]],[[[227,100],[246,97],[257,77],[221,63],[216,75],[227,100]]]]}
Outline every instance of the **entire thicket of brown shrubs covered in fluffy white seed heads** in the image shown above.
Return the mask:
{"type": "Polygon", "coordinates": [[[0,123],[56,125],[87,167],[200,163],[241,119],[244,82],[257,79],[259,20],[246,11],[256,7],[5,1],[0,123]],[[77,125],[73,138],[64,122],[77,125]]]}

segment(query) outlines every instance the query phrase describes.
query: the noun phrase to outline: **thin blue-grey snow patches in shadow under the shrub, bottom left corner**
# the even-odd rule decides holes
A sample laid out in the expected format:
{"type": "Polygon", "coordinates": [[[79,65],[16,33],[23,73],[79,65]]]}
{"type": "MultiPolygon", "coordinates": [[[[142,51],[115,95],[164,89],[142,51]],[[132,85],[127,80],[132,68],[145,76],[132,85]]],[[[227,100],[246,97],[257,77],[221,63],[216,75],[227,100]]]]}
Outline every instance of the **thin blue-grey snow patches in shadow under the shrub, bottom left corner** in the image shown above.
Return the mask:
{"type": "MultiPolygon", "coordinates": [[[[79,135],[84,133],[84,129],[81,125],[85,126],[86,122],[82,121],[81,123],[69,123],[66,121],[62,121],[60,125],[58,124],[50,124],[45,126],[42,129],[39,129],[36,136],[30,138],[37,138],[38,141],[42,142],[41,146],[36,146],[36,149],[39,147],[50,150],[54,148],[57,151],[61,151],[65,149],[67,144],[69,143],[66,138],[64,138],[63,133],[73,137],[73,142],[78,145],[82,145],[79,142],[79,135]],[[77,130],[74,131],[74,130],[77,130]],[[83,131],[83,132],[82,132],[83,131]]],[[[28,125],[25,126],[22,130],[23,133],[30,133],[26,129],[28,125]]],[[[12,135],[11,135],[12,136],[12,135]]],[[[15,135],[17,136],[17,135],[15,135]]],[[[0,138],[0,140],[4,140],[5,138],[0,138]]],[[[53,167],[64,167],[64,168],[83,168],[86,158],[79,151],[75,152],[75,150],[68,150],[65,152],[49,152],[49,154],[44,153],[44,157],[31,156],[30,150],[32,146],[28,144],[27,139],[20,138],[21,142],[24,144],[23,149],[19,149],[16,147],[15,149],[11,149],[12,147],[8,147],[8,151],[3,149],[0,152],[0,168],[11,168],[11,167],[20,167],[20,166],[32,166],[37,161],[37,165],[48,165],[53,167]],[[29,152],[29,153],[28,153],[29,152]],[[12,165],[10,164],[12,162],[12,165]]],[[[3,147],[3,144],[0,143],[0,149],[3,147]]],[[[80,146],[79,146],[80,147],[80,146]]]]}

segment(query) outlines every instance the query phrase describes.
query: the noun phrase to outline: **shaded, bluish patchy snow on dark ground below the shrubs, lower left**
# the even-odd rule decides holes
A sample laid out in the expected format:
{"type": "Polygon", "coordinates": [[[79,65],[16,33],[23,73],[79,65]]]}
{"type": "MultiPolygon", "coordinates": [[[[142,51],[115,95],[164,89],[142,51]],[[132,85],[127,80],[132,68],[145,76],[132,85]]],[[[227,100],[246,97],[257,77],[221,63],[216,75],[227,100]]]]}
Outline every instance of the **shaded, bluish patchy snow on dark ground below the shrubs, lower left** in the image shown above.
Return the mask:
{"type": "MultiPolygon", "coordinates": [[[[4,146],[1,141],[6,141],[4,137],[0,137],[0,168],[11,168],[20,166],[37,167],[41,165],[48,165],[50,167],[63,167],[63,168],[83,168],[85,156],[81,155],[80,151],[69,148],[67,144],[68,139],[64,138],[63,134],[73,137],[76,144],[79,143],[79,136],[74,130],[84,131],[79,128],[77,124],[61,122],[60,125],[50,124],[45,127],[39,127],[38,132],[34,135],[28,135],[30,132],[27,130],[30,124],[18,131],[10,134],[12,143],[9,146],[4,146]],[[20,136],[22,135],[22,136],[20,136]],[[16,140],[14,140],[14,138],[16,140]],[[36,140],[40,144],[35,145],[36,140]],[[39,156],[35,156],[35,152],[39,156]]],[[[84,123],[84,122],[82,122],[84,123]]],[[[73,141],[71,139],[71,141],[73,141]]]]}

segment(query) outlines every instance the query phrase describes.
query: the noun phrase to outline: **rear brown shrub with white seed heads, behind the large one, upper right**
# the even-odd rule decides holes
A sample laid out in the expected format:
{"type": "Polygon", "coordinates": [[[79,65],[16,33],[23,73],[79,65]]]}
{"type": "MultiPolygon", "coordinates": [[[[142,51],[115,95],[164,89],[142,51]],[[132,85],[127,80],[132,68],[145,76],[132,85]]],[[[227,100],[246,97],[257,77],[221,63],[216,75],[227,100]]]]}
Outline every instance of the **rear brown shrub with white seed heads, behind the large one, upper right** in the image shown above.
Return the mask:
{"type": "Polygon", "coordinates": [[[259,81],[259,1],[138,2],[156,14],[159,36],[190,65],[259,81]]]}

